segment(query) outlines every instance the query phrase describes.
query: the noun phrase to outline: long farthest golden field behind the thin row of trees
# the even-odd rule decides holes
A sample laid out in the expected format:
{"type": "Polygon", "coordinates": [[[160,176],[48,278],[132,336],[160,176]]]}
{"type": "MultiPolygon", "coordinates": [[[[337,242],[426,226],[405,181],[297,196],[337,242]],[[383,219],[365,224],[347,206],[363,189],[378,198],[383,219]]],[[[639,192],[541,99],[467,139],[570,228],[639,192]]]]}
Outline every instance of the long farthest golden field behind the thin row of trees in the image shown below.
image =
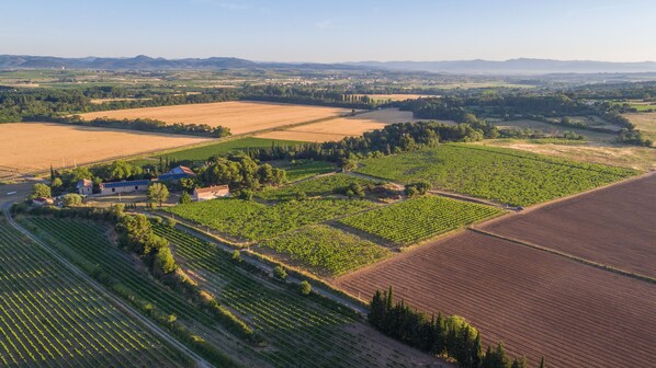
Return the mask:
{"type": "Polygon", "coordinates": [[[82,114],[86,119],[154,118],[169,124],[207,124],[225,126],[234,135],[272,129],[285,125],[338,117],[350,113],[350,108],[304,106],[271,102],[230,101],[206,104],[189,104],[161,107],[115,110],[82,114]]]}

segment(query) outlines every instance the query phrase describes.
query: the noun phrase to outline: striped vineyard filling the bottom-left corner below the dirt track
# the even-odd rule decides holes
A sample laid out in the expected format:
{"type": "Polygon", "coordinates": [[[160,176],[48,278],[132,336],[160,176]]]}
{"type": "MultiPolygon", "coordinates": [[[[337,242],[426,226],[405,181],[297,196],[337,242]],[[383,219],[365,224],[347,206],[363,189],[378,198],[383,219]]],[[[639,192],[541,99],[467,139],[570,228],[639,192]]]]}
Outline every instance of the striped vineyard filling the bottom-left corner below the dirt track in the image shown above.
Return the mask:
{"type": "Polygon", "coordinates": [[[0,220],[0,366],[191,363],[0,220]]]}

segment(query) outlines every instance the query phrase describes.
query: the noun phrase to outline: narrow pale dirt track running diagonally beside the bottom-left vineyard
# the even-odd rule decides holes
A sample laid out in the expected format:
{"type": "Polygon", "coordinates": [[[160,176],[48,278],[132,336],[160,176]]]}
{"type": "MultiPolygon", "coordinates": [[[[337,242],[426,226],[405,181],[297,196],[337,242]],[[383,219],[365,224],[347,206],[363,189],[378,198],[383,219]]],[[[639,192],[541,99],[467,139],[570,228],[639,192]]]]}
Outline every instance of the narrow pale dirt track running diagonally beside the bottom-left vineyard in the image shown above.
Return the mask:
{"type": "Polygon", "coordinates": [[[115,297],[112,294],[110,294],[102,285],[100,285],[97,280],[94,280],[89,275],[87,275],[83,271],[81,271],[78,266],[76,266],[75,264],[72,264],[70,261],[66,260],[63,255],[60,255],[59,253],[57,253],[57,251],[50,249],[50,246],[48,246],[47,244],[45,244],[38,237],[34,235],[33,233],[31,233],[30,231],[27,231],[26,229],[24,229],[22,226],[20,226],[13,219],[13,217],[11,216],[11,211],[9,209],[10,206],[11,206],[11,203],[4,204],[4,206],[2,206],[2,211],[4,212],[4,217],[7,218],[7,220],[9,221],[9,223],[12,227],[14,227],[19,232],[21,232],[23,235],[27,237],[31,241],[33,241],[38,246],[41,246],[56,262],[58,262],[60,265],[63,265],[64,267],[66,267],[73,275],[76,275],[77,277],[80,277],[80,279],[82,281],[84,281],[89,287],[91,287],[97,292],[99,292],[100,296],[102,296],[103,298],[105,298],[110,303],[112,303],[114,307],[116,307],[120,311],[122,311],[123,313],[125,313],[128,317],[133,318],[135,321],[137,321],[137,323],[142,324],[144,327],[146,327],[147,330],[149,330],[150,332],[152,332],[155,335],[159,336],[162,340],[163,343],[167,343],[167,344],[173,346],[174,348],[179,349],[181,353],[186,354],[189,357],[191,357],[192,359],[194,359],[195,363],[201,368],[213,367],[213,365],[211,365],[210,363],[207,363],[205,359],[203,359],[196,353],[194,353],[193,350],[191,350],[184,344],[180,343],[177,338],[170,336],[167,332],[165,332],[163,330],[161,330],[161,327],[158,326],[155,322],[148,320],[142,313],[139,313],[138,311],[136,311],[133,307],[126,304],[125,302],[123,302],[122,300],[120,300],[117,297],[115,297]]]}

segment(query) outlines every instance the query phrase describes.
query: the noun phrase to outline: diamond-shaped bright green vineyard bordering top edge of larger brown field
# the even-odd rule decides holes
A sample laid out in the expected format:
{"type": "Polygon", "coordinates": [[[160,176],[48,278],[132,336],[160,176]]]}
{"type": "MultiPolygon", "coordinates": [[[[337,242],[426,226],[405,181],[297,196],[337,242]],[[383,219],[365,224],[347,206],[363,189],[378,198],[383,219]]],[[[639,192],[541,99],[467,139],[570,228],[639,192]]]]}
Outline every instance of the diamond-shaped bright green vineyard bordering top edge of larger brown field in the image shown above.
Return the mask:
{"type": "Polygon", "coordinates": [[[346,217],[339,221],[405,245],[502,212],[496,207],[426,196],[346,217]]]}

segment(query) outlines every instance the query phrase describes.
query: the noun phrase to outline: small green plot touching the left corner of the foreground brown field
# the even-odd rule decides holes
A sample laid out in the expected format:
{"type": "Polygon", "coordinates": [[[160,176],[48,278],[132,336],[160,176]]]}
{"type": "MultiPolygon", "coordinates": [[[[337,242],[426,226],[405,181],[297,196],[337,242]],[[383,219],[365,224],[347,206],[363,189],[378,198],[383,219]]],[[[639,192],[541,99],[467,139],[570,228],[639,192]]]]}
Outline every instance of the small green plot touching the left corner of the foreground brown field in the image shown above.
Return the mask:
{"type": "Polygon", "coordinates": [[[339,276],[391,255],[383,246],[327,226],[308,227],[259,245],[299,262],[304,268],[329,276],[339,276]]]}

